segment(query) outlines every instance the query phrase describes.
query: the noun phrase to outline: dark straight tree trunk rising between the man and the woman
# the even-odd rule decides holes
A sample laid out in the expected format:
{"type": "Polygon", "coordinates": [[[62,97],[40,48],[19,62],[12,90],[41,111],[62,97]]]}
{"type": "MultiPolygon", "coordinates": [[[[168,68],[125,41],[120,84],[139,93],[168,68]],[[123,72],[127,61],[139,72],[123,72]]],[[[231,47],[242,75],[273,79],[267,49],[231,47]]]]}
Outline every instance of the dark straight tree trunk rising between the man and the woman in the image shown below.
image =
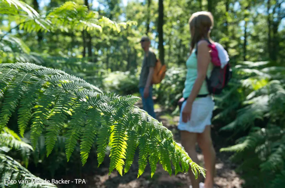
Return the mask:
{"type": "Polygon", "coordinates": [[[158,49],[159,59],[164,64],[164,46],[163,46],[163,0],[158,0],[158,49]]]}

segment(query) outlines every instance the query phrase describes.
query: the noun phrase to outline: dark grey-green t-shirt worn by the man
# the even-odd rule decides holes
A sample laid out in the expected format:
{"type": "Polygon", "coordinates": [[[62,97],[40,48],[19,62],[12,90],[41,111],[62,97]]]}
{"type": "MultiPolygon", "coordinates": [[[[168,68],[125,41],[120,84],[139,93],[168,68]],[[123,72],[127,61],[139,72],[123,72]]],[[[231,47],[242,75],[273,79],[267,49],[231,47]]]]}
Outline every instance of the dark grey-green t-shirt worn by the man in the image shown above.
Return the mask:
{"type": "Polygon", "coordinates": [[[149,73],[149,68],[154,67],[155,63],[156,63],[156,57],[153,52],[148,51],[148,57],[146,57],[146,53],[144,54],[143,66],[139,80],[139,87],[145,87],[149,73]]]}

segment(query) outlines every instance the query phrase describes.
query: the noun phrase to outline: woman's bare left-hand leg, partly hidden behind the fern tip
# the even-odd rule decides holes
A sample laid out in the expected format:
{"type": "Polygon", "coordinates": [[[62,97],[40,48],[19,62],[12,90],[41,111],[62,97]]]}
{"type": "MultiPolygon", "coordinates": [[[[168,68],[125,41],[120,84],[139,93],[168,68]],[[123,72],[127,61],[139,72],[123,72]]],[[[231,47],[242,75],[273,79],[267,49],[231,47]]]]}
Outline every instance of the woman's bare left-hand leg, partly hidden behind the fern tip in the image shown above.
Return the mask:
{"type": "MultiPolygon", "coordinates": [[[[184,147],[185,151],[188,153],[192,161],[198,164],[199,160],[197,158],[196,152],[197,133],[181,131],[181,142],[182,146],[184,147]]],[[[188,173],[191,179],[192,188],[199,188],[199,177],[198,179],[195,179],[195,175],[191,171],[191,169],[188,170],[188,173]]]]}

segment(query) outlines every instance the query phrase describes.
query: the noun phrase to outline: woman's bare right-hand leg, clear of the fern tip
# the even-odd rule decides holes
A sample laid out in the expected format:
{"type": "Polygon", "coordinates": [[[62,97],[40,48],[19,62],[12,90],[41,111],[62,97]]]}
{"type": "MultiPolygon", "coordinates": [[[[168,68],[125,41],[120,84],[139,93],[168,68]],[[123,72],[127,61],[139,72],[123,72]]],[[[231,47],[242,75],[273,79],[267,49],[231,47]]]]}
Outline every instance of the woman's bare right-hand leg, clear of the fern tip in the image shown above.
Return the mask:
{"type": "Polygon", "coordinates": [[[205,169],[206,179],[205,179],[205,188],[213,188],[214,186],[214,176],[215,176],[215,161],[216,161],[216,152],[213,147],[212,138],[211,138],[211,126],[206,126],[203,133],[197,134],[198,145],[202,150],[205,169]]]}

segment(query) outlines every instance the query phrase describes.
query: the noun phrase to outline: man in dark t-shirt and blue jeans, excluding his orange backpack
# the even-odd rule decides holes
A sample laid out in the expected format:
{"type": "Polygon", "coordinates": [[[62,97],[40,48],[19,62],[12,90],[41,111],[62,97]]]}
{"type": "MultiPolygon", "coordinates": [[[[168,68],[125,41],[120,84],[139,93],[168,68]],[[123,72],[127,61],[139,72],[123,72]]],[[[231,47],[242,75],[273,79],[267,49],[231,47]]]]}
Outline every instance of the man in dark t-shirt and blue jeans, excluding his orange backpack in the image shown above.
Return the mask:
{"type": "Polygon", "coordinates": [[[156,56],[153,52],[149,51],[150,40],[148,37],[142,37],[140,43],[145,53],[139,80],[139,91],[143,98],[144,111],[155,118],[151,80],[154,72],[154,66],[156,64],[156,56]]]}

